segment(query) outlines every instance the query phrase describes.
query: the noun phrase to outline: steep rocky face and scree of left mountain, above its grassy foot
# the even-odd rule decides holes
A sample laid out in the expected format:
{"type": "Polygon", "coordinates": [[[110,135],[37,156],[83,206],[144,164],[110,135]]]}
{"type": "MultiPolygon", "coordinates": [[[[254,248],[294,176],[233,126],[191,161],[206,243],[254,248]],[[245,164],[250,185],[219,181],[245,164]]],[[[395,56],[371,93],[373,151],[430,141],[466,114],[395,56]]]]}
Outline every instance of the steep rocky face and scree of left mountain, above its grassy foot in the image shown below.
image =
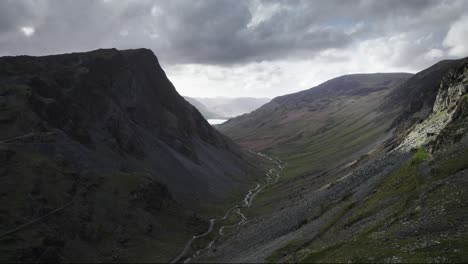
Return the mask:
{"type": "Polygon", "coordinates": [[[190,201],[201,193],[220,198],[246,175],[241,152],[179,96],[149,50],[3,58],[0,65],[3,140],[54,131],[50,140],[63,137],[86,152],[74,151],[76,166],[156,172],[190,201]]]}

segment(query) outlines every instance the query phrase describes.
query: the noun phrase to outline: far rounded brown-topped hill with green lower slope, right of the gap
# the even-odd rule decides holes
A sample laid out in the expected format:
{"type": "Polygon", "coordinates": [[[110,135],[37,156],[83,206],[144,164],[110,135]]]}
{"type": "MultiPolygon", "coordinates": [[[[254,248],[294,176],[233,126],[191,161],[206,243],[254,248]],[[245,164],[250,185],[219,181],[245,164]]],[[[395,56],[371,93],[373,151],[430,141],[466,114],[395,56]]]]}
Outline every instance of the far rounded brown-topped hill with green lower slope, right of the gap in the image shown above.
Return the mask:
{"type": "Polygon", "coordinates": [[[389,137],[398,111],[379,107],[410,77],[407,73],[338,77],[277,97],[219,130],[246,148],[270,151],[291,164],[307,160],[316,171],[329,163],[348,163],[389,137]]]}

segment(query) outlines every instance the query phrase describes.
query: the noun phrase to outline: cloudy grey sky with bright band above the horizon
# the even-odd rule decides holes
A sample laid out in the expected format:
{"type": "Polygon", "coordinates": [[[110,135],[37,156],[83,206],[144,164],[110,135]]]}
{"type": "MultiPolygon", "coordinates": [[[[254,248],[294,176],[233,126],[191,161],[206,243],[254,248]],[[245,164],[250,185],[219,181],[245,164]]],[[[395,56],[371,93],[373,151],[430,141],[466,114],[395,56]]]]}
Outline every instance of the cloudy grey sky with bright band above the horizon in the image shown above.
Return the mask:
{"type": "Polygon", "coordinates": [[[275,97],[468,56],[465,0],[0,0],[0,56],[149,48],[178,92],[275,97]]]}

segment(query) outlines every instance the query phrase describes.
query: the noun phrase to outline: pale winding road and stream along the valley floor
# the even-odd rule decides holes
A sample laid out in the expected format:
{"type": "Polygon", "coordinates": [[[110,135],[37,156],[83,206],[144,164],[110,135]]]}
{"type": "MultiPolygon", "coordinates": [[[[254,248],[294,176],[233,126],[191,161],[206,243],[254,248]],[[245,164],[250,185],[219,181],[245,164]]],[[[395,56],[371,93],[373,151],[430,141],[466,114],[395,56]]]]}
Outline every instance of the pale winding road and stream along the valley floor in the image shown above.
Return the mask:
{"type": "MultiPolygon", "coordinates": [[[[248,191],[248,193],[245,195],[244,197],[244,200],[242,201],[242,205],[238,205],[238,206],[234,206],[232,208],[230,208],[228,211],[226,211],[226,213],[224,214],[224,216],[220,219],[217,219],[217,218],[213,218],[210,220],[210,224],[208,226],[208,230],[203,233],[203,234],[200,234],[200,235],[195,235],[193,236],[186,244],[185,244],[185,247],[184,249],[182,250],[182,252],[176,257],[174,258],[171,263],[180,263],[182,262],[182,259],[189,253],[190,249],[191,249],[191,246],[193,244],[193,242],[197,239],[200,239],[200,238],[203,238],[203,237],[206,237],[208,236],[209,234],[211,234],[211,232],[213,231],[214,229],[214,226],[216,224],[216,221],[223,221],[223,220],[226,220],[229,218],[229,216],[231,216],[232,212],[236,212],[237,215],[240,216],[241,220],[237,223],[237,224],[234,224],[234,225],[227,225],[227,226],[221,226],[219,229],[218,229],[218,235],[220,236],[224,236],[224,230],[226,228],[234,228],[234,227],[241,227],[243,226],[244,224],[247,223],[248,219],[247,217],[242,213],[242,209],[243,208],[250,208],[252,206],[252,203],[253,203],[253,200],[255,199],[255,197],[263,190],[265,189],[267,186],[271,185],[271,184],[275,184],[278,182],[279,180],[279,177],[280,177],[280,173],[281,171],[283,170],[284,168],[284,165],[281,164],[281,161],[276,159],[274,160],[273,158],[270,158],[268,157],[267,155],[265,154],[262,154],[262,153],[256,153],[257,155],[261,156],[261,157],[264,157],[270,161],[273,161],[275,164],[276,164],[276,168],[272,168],[268,171],[268,173],[266,173],[266,179],[265,179],[265,183],[263,185],[261,185],[260,183],[256,183],[256,186],[255,188],[251,189],[248,191]]],[[[190,260],[192,260],[193,258],[196,258],[198,257],[202,251],[204,250],[207,250],[207,249],[210,249],[213,244],[215,243],[215,240],[212,240],[207,247],[205,247],[204,249],[202,250],[198,250],[197,252],[195,252],[195,254],[193,254],[191,257],[188,257],[186,258],[183,263],[189,263],[190,260]]]]}

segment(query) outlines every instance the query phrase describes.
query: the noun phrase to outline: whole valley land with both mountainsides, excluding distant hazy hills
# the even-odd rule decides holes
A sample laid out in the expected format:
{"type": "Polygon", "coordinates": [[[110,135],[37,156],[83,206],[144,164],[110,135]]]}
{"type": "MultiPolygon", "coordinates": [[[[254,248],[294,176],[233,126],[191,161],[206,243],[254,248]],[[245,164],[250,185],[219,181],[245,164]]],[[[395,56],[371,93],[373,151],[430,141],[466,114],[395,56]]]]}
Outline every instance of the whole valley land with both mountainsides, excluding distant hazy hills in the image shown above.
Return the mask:
{"type": "Polygon", "coordinates": [[[466,261],[467,65],[213,127],[149,50],[1,58],[1,261],[466,261]]]}

